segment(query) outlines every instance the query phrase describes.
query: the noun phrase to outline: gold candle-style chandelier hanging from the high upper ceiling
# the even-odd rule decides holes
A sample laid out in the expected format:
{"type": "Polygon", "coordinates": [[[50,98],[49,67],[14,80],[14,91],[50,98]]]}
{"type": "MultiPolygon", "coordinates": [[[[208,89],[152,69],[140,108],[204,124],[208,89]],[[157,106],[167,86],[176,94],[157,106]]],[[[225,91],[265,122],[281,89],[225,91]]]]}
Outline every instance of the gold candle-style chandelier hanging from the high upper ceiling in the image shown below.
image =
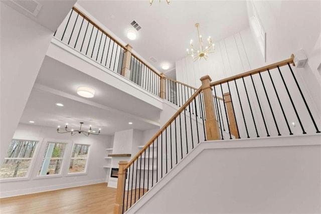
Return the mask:
{"type": "Polygon", "coordinates": [[[197,59],[200,59],[202,57],[204,57],[205,60],[207,60],[209,54],[212,54],[212,53],[215,53],[215,46],[214,44],[212,43],[212,39],[211,37],[209,37],[207,39],[207,41],[209,42],[209,46],[206,46],[204,48],[203,46],[203,39],[202,39],[202,35],[200,35],[200,31],[199,31],[199,26],[200,24],[199,23],[196,23],[195,24],[195,27],[197,28],[197,35],[198,35],[198,38],[199,38],[199,44],[200,44],[200,50],[196,50],[194,47],[193,47],[193,40],[191,40],[190,42],[190,45],[191,45],[191,53],[189,51],[189,49],[187,49],[187,56],[191,56],[194,60],[194,62],[197,60],[197,59]]]}

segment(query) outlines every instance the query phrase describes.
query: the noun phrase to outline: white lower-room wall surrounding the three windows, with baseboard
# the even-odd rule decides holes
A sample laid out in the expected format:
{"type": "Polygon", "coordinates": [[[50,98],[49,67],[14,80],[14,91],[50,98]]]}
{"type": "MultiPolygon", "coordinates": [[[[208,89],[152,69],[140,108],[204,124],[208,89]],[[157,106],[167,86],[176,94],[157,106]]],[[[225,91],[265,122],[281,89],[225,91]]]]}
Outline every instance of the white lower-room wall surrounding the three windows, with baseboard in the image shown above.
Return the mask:
{"type": "MultiPolygon", "coordinates": [[[[70,134],[58,134],[55,128],[19,124],[14,138],[27,140],[37,138],[40,139],[40,142],[37,148],[38,151],[37,153],[35,153],[36,159],[33,162],[30,171],[31,178],[27,180],[7,182],[2,180],[0,183],[1,197],[105,182],[106,169],[103,168],[103,165],[105,165],[105,148],[110,146],[111,136],[90,135],[87,137],[82,134],[71,136],[70,134]],[[62,175],[58,177],[46,176],[45,178],[37,178],[37,173],[39,171],[41,161],[45,152],[46,139],[59,140],[61,142],[68,143],[66,147],[65,159],[63,162],[62,175]],[[73,142],[90,144],[90,150],[88,154],[89,160],[86,174],[67,175],[68,167],[66,166],[69,163],[73,142]]],[[[7,149],[5,152],[7,152],[7,149]]]]}

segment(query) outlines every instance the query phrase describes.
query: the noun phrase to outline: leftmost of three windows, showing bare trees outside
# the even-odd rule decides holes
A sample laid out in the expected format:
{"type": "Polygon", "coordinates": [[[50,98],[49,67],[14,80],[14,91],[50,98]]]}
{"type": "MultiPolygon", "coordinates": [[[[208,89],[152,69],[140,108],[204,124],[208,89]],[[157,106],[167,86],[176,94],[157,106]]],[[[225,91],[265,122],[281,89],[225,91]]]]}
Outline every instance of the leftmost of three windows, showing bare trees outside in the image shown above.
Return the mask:
{"type": "Polygon", "coordinates": [[[38,142],[13,139],[0,169],[0,178],[27,177],[38,142]]]}

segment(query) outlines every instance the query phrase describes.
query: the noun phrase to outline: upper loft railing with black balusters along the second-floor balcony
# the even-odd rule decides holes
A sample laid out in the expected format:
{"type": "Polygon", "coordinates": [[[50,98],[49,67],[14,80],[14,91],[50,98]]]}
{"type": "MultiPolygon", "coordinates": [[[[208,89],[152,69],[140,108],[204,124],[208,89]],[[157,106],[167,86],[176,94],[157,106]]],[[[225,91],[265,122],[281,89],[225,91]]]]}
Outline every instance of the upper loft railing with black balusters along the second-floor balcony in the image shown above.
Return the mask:
{"type": "Polygon", "coordinates": [[[155,96],[176,105],[183,105],[196,90],[154,71],[132,53],[130,45],[122,45],[77,8],[69,12],[54,37],[155,96]]]}

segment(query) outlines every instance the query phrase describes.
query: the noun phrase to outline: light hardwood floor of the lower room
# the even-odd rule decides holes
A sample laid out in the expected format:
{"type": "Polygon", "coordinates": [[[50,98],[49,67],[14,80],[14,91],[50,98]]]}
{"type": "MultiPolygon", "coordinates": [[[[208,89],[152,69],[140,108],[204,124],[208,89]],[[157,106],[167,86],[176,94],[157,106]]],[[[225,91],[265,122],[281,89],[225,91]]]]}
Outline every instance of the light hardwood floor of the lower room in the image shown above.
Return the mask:
{"type": "Polygon", "coordinates": [[[106,183],[0,199],[0,213],[112,213],[116,189],[106,183]]]}

